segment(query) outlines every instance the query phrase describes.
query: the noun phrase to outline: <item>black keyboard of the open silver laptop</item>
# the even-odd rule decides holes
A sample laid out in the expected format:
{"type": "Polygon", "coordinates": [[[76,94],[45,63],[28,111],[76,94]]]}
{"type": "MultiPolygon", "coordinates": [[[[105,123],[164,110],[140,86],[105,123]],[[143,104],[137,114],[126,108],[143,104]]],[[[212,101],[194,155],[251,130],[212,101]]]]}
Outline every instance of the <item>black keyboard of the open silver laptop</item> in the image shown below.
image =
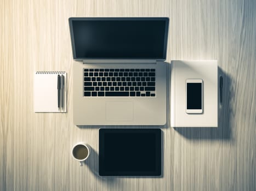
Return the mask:
{"type": "Polygon", "coordinates": [[[155,69],[83,69],[84,97],[156,97],[155,69]]]}

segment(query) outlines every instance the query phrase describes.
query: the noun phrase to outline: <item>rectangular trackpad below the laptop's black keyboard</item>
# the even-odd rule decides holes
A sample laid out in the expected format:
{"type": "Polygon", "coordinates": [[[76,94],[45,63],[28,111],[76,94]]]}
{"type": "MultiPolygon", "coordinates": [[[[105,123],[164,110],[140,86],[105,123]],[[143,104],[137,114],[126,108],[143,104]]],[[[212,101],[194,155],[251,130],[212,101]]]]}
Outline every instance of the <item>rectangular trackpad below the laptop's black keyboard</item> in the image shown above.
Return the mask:
{"type": "Polygon", "coordinates": [[[106,102],[106,121],[132,121],[133,102],[106,102]]]}

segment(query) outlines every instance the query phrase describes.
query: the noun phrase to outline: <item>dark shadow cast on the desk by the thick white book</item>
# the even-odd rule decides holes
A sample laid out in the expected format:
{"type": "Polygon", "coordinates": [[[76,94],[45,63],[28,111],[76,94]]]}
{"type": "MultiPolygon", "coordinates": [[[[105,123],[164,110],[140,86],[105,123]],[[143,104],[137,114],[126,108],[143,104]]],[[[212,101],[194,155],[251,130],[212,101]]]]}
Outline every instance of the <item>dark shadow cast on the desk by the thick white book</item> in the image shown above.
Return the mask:
{"type": "MultiPolygon", "coordinates": [[[[223,102],[219,106],[218,128],[214,127],[179,127],[174,128],[187,139],[232,140],[232,118],[234,118],[234,87],[229,75],[218,67],[223,76],[223,102]]],[[[219,86],[218,86],[219,88],[219,86]]]]}

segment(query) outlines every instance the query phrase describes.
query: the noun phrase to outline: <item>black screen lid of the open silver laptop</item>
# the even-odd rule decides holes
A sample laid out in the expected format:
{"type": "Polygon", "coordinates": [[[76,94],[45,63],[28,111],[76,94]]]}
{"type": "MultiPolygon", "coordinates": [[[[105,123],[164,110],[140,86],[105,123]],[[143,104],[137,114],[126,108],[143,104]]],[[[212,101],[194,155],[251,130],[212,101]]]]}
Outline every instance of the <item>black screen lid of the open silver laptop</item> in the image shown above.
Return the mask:
{"type": "Polygon", "coordinates": [[[168,18],[70,18],[74,59],[165,59],[168,18]]]}

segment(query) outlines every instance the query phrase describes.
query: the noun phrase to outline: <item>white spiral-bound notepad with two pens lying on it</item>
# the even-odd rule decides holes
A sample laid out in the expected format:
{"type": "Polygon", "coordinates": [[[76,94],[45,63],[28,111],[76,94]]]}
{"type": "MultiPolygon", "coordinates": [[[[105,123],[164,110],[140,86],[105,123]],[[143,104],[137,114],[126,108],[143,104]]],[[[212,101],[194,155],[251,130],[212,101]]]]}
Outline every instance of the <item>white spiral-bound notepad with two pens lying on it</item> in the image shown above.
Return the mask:
{"type": "Polygon", "coordinates": [[[34,76],[34,111],[66,112],[66,82],[65,71],[36,71],[34,76]],[[58,75],[62,77],[64,82],[59,93],[58,75]]]}

